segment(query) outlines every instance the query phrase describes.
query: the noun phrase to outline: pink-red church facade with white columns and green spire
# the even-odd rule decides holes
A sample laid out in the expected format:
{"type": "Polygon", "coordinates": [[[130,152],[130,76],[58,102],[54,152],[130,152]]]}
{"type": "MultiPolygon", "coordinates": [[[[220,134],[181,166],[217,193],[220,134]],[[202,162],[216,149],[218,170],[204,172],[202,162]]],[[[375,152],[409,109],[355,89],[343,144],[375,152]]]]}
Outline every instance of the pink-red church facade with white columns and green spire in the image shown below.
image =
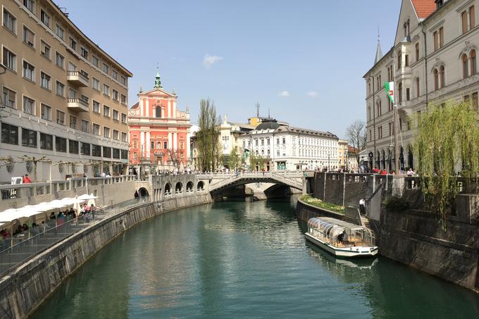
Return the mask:
{"type": "Polygon", "coordinates": [[[166,92],[156,74],[154,89],[139,92],[130,108],[130,164],[144,166],[146,173],[183,170],[189,163],[189,111],[179,111],[178,96],[166,92]]]}

